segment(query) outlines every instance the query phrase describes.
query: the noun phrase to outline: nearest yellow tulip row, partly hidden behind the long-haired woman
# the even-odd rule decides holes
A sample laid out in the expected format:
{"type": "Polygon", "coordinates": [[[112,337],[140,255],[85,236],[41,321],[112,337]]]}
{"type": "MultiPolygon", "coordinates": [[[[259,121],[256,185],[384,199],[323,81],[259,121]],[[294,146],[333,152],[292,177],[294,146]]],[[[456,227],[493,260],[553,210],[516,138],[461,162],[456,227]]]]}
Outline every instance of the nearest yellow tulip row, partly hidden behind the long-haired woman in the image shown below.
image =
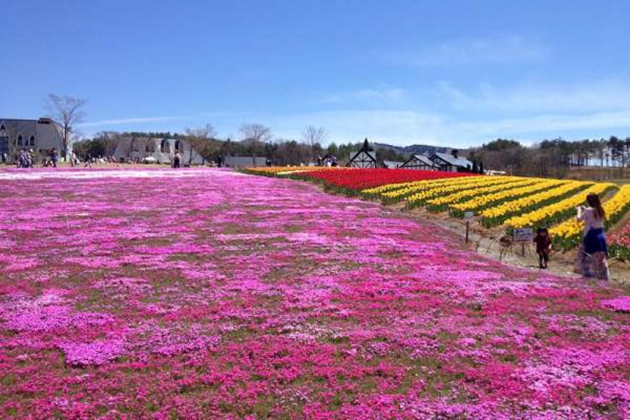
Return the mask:
{"type": "MultiPolygon", "coordinates": [[[[606,225],[615,224],[630,209],[630,185],[622,186],[610,200],[603,202],[602,207],[606,214],[606,225]]],[[[568,249],[580,244],[584,224],[577,218],[570,218],[559,225],[549,229],[554,246],[568,249]]]]}

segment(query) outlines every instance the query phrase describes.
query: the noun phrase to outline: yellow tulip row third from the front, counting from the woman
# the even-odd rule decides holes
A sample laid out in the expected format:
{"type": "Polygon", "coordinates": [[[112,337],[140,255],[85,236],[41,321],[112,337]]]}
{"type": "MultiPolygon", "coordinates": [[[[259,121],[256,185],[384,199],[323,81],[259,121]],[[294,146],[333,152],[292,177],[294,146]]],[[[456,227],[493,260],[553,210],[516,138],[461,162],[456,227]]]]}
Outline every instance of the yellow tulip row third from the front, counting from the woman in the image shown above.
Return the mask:
{"type": "Polygon", "coordinates": [[[540,204],[546,204],[547,202],[554,200],[561,200],[565,195],[577,191],[592,183],[581,181],[569,181],[561,186],[552,188],[550,190],[542,191],[541,193],[528,195],[522,197],[519,200],[508,201],[500,204],[496,207],[491,207],[482,211],[482,224],[486,227],[498,225],[503,223],[506,218],[512,214],[519,214],[527,209],[540,204]]]}

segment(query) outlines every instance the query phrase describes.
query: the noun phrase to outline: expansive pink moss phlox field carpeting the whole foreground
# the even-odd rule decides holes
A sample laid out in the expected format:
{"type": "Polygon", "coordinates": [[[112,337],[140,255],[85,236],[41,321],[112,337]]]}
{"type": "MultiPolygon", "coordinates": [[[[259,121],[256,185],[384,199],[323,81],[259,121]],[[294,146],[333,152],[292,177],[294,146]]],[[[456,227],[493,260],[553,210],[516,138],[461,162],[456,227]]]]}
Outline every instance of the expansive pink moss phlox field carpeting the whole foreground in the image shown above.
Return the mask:
{"type": "Polygon", "coordinates": [[[0,184],[4,418],[630,418],[626,286],[296,181],[0,184]]]}

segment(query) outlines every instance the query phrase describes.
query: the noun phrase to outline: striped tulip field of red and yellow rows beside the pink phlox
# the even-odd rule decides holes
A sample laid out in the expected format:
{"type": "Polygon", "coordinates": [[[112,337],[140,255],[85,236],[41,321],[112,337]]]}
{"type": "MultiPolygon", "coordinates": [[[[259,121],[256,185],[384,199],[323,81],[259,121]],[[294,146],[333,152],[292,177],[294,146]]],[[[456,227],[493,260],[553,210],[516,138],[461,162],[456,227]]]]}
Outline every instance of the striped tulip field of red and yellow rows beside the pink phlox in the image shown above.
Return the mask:
{"type": "MultiPolygon", "coordinates": [[[[349,169],[272,167],[252,169],[255,174],[273,174],[292,179],[323,181],[327,188],[381,200],[404,202],[409,209],[424,207],[463,218],[472,211],[485,228],[503,225],[517,228],[549,228],[556,249],[580,244],[582,225],[575,221],[575,207],[590,193],[599,195],[607,214],[607,227],[614,228],[630,211],[630,186],[608,182],[537,179],[519,176],[474,176],[450,172],[409,169],[349,169]]],[[[627,231],[624,230],[624,232],[627,231]]],[[[630,259],[627,234],[613,237],[614,255],[630,259]]]]}

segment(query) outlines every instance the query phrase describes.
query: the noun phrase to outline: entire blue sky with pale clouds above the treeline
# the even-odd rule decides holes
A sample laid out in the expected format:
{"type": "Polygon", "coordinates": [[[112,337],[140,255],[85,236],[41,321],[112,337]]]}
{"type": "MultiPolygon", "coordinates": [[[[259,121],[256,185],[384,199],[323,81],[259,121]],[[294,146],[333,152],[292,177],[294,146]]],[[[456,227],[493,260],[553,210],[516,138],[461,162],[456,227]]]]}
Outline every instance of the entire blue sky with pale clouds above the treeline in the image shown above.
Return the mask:
{"type": "Polygon", "coordinates": [[[472,146],[630,136],[628,1],[3,1],[0,116],[472,146]]]}

